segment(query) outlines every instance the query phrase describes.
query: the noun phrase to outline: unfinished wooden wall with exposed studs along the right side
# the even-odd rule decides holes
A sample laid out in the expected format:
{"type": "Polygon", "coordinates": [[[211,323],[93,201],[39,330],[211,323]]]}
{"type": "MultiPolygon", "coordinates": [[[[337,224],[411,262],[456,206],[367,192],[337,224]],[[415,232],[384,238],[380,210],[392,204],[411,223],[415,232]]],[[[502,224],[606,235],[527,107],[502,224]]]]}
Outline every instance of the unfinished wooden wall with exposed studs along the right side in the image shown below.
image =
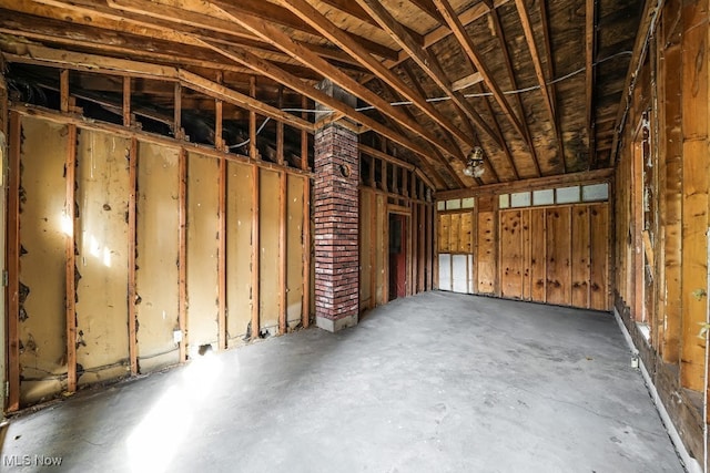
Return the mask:
{"type": "Polygon", "coordinates": [[[709,2],[667,1],[642,56],[615,176],[615,308],[680,436],[707,445],[709,2]]]}

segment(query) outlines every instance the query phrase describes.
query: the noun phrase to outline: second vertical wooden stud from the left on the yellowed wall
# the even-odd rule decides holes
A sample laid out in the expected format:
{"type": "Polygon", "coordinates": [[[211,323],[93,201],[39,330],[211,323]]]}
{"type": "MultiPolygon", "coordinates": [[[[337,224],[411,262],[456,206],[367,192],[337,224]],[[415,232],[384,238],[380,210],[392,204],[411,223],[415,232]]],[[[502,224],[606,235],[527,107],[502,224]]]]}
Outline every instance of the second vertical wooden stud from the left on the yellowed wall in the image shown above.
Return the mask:
{"type": "MultiPolygon", "coordinates": [[[[63,72],[62,72],[63,73],[63,72]]],[[[67,391],[77,391],[77,126],[68,126],[64,218],[67,220],[67,236],[64,239],[64,309],[67,327],[67,391]]]]}

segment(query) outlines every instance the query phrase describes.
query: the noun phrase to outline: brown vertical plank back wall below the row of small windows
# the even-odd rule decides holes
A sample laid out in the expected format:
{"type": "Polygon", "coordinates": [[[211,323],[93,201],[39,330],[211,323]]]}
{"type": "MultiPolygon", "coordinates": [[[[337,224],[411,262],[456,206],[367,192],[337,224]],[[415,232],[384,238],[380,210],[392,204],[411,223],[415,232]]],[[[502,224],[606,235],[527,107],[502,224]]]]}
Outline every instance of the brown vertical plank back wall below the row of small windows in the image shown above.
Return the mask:
{"type": "Polygon", "coordinates": [[[471,292],[610,309],[607,202],[500,210],[489,196],[478,203],[438,215],[439,254],[473,256],[471,292]]]}

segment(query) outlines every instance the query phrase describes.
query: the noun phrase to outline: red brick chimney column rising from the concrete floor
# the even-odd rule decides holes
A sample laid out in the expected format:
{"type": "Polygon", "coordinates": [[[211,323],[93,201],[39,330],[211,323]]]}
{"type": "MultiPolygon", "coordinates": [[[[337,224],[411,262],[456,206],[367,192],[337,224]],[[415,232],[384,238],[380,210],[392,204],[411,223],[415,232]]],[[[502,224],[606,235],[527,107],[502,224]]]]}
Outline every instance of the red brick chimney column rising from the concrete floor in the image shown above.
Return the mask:
{"type": "MultiPolygon", "coordinates": [[[[321,89],[354,101],[329,83],[321,89]]],[[[315,317],[332,332],[357,325],[359,315],[357,142],[356,133],[337,123],[315,133],[315,317]]]]}

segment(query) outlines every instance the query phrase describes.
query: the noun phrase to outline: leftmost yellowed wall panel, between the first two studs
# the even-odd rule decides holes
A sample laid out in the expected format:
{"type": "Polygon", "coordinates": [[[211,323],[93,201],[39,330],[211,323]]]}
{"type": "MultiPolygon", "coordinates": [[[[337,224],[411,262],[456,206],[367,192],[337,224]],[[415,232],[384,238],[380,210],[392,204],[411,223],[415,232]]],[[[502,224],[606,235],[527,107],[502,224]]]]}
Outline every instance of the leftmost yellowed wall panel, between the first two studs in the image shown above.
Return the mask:
{"type": "Polygon", "coordinates": [[[10,137],[11,146],[21,146],[20,296],[14,316],[23,379],[20,397],[36,402],[65,388],[64,241],[72,232],[71,218],[64,215],[69,130],[24,119],[21,135],[10,137]]]}

